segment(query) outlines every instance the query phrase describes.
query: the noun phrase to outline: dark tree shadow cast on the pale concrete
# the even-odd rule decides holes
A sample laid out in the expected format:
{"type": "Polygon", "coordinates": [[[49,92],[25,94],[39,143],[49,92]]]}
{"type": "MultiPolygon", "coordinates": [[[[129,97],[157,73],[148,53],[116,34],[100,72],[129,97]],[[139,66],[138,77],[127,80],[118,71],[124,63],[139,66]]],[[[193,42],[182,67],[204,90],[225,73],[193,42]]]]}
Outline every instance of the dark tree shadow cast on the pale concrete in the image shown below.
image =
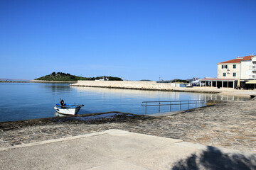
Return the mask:
{"type": "Polygon", "coordinates": [[[201,154],[191,154],[186,159],[181,159],[174,164],[172,170],[197,170],[197,169],[256,169],[255,154],[223,153],[216,147],[207,147],[201,154]]]}

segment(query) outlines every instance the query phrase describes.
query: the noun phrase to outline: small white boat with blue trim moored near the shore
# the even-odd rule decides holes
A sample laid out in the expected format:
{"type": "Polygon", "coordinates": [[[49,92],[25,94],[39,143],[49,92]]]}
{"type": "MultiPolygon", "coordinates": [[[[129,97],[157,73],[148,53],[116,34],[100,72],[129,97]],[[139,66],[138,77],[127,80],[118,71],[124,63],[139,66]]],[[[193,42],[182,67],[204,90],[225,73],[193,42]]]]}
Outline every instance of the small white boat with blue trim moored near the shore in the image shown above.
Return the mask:
{"type": "Polygon", "coordinates": [[[64,115],[76,115],[82,106],[84,105],[70,105],[61,100],[59,104],[55,104],[54,109],[64,115]]]}

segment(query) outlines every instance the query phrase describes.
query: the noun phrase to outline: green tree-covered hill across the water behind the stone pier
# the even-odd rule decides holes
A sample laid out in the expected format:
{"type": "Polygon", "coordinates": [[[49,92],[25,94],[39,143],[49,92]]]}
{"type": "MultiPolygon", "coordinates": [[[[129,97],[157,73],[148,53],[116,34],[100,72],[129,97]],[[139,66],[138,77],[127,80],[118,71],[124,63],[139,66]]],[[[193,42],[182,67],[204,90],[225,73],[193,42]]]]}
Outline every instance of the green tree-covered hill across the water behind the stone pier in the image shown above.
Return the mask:
{"type": "Polygon", "coordinates": [[[35,80],[45,80],[45,81],[78,81],[78,80],[95,80],[95,79],[109,79],[110,81],[122,81],[121,78],[119,77],[78,77],[75,75],[71,75],[69,73],[63,73],[63,72],[58,72],[55,73],[53,72],[52,74],[46,75],[44,77],[40,77],[35,80]]]}

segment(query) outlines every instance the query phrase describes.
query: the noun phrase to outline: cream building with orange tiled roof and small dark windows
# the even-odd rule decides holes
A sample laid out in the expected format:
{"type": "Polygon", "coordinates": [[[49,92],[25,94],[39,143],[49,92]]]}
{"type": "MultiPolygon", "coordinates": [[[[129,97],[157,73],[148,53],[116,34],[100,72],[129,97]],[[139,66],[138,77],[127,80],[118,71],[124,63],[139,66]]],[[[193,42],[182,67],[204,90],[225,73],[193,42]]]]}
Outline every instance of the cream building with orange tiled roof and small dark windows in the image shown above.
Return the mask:
{"type": "Polygon", "coordinates": [[[256,55],[237,57],[217,65],[218,79],[256,79],[256,55]]]}

